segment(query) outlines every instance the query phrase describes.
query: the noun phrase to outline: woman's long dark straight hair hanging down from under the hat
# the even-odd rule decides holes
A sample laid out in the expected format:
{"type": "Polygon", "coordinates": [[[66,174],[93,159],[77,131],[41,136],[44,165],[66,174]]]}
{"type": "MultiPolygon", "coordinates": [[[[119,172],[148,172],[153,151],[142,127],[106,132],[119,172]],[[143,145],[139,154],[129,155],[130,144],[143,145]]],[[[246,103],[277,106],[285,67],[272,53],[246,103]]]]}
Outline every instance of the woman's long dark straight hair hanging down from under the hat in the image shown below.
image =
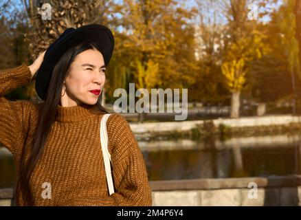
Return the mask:
{"type": "MultiPolygon", "coordinates": [[[[38,163],[38,159],[43,154],[50,128],[56,120],[63,81],[67,77],[69,67],[74,61],[74,58],[76,58],[76,56],[81,52],[89,49],[101,52],[101,49],[92,42],[81,43],[80,45],[69,48],[69,50],[65,52],[58,63],[54,66],[47,94],[45,96],[45,102],[38,104],[38,124],[36,126],[32,145],[26,145],[23,148],[21,157],[20,186],[16,188],[17,193],[17,191],[20,190],[19,187],[21,187],[25,206],[34,205],[34,201],[32,201],[32,193],[30,191],[30,177],[38,163]]],[[[96,104],[91,106],[94,113],[108,113],[107,109],[102,107],[101,102],[102,94],[98,97],[96,104]]]]}

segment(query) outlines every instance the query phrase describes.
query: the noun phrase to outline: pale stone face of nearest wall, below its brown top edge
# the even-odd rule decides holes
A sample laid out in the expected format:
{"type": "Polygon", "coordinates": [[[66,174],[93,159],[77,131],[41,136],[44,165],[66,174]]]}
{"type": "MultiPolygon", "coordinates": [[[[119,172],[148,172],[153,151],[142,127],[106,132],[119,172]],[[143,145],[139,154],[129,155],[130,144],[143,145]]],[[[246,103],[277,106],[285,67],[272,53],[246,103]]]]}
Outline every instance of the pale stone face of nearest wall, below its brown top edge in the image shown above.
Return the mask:
{"type": "Polygon", "coordinates": [[[153,206],[300,206],[301,186],[249,189],[166,190],[152,192],[153,206]]]}

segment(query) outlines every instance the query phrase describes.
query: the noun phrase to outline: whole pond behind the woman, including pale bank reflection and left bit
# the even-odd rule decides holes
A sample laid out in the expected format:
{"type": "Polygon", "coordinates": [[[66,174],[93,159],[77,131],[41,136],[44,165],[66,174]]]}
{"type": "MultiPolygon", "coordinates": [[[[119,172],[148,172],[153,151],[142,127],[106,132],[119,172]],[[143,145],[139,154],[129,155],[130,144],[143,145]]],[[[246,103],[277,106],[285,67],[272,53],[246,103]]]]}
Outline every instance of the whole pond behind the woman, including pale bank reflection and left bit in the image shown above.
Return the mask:
{"type": "MultiPolygon", "coordinates": [[[[300,174],[300,136],[139,142],[148,179],[267,177],[300,174]]],[[[0,147],[0,188],[15,181],[12,155],[0,147]]]]}

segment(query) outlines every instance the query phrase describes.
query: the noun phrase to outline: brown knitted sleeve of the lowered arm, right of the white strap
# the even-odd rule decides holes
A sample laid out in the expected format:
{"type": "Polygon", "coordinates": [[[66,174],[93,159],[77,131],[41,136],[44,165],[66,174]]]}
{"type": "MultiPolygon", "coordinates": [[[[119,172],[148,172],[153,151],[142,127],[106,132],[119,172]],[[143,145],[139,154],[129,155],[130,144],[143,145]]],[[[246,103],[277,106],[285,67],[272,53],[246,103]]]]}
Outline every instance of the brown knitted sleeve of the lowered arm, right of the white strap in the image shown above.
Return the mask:
{"type": "Polygon", "coordinates": [[[68,206],[151,206],[151,190],[143,155],[122,115],[107,121],[115,193],[107,197],[72,199],[68,206]]]}

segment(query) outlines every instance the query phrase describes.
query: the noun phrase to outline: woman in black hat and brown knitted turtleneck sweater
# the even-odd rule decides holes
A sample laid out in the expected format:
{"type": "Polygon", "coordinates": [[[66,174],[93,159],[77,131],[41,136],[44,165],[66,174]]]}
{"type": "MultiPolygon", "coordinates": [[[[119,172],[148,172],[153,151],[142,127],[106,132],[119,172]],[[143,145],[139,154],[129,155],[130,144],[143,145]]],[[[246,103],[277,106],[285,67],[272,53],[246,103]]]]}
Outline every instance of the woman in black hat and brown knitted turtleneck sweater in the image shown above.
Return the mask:
{"type": "Polygon", "coordinates": [[[100,95],[113,47],[102,25],[69,28],[32,65],[0,72],[0,142],[14,156],[17,206],[151,206],[142,153],[116,113],[107,121],[115,187],[108,193],[100,95]],[[3,97],[32,79],[45,102],[3,97]]]}

